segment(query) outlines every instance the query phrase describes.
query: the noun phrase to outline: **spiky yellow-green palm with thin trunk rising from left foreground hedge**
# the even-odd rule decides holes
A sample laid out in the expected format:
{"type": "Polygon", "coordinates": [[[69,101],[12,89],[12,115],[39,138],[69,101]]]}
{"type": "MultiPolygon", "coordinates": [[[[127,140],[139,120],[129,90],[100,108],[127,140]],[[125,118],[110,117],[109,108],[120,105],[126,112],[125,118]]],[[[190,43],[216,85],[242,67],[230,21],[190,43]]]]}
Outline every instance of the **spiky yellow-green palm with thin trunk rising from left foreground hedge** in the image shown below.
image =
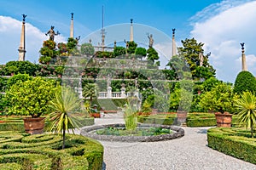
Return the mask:
{"type": "Polygon", "coordinates": [[[77,127],[76,123],[73,122],[70,114],[78,111],[81,106],[81,100],[79,96],[73,93],[71,88],[62,88],[61,93],[55,93],[55,99],[49,102],[49,107],[52,109],[51,116],[53,122],[49,127],[49,131],[54,133],[62,133],[62,149],[65,149],[65,133],[66,130],[77,127]]]}

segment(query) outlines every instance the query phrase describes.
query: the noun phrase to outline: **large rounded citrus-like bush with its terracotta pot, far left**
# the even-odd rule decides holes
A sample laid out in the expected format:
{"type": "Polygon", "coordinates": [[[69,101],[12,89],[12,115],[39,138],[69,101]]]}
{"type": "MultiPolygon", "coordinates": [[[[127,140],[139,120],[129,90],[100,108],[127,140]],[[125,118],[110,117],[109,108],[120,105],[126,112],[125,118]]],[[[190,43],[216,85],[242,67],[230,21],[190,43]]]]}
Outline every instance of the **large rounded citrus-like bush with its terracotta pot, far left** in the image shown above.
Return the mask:
{"type": "Polygon", "coordinates": [[[41,116],[49,113],[48,103],[53,99],[56,89],[54,82],[41,77],[16,82],[6,92],[9,102],[7,114],[29,116],[23,119],[26,133],[43,133],[44,117],[41,116]]]}

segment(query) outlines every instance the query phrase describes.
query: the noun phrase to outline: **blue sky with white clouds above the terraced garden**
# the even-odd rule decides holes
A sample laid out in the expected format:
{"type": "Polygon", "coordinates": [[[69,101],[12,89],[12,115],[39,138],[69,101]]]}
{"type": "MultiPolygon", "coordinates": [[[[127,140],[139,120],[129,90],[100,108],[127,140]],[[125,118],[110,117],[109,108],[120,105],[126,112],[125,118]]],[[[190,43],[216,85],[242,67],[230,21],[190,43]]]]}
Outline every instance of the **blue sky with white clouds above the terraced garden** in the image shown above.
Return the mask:
{"type": "MultiPolygon", "coordinates": [[[[159,35],[170,38],[172,28],[176,28],[177,46],[181,45],[181,40],[195,37],[205,43],[206,53],[212,53],[210,62],[217,70],[217,77],[234,82],[236,74],[241,71],[240,42],[246,44],[248,70],[256,75],[255,3],[250,0],[1,0],[0,63],[18,59],[21,14],[27,14],[26,59],[38,62],[38,50],[48,38],[44,33],[50,26],[61,32],[56,37],[57,42],[67,41],[70,13],[73,12],[75,37],[88,37],[102,27],[103,5],[106,27],[125,23],[128,26],[132,18],[135,25],[155,28],[159,35]]],[[[120,29],[115,31],[122,32],[120,29]]],[[[107,29],[106,39],[113,36],[110,32],[107,29]]],[[[126,35],[129,32],[124,32],[124,38],[128,38],[126,35]]],[[[157,40],[156,33],[154,37],[157,40]]],[[[154,45],[161,53],[171,54],[170,41],[155,42],[154,45]]]]}

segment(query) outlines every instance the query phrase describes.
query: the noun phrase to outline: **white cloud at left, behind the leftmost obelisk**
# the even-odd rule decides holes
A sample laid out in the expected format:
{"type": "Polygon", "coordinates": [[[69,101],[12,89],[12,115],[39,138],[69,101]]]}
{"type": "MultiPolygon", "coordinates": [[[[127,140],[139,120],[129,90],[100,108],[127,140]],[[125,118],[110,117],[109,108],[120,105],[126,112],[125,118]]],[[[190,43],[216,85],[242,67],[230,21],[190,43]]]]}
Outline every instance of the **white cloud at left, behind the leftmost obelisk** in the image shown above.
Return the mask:
{"type": "MultiPolygon", "coordinates": [[[[0,64],[19,57],[21,21],[8,16],[0,16],[0,64]]],[[[26,23],[26,60],[38,62],[39,49],[48,37],[37,27],[26,23]]],[[[55,37],[55,42],[65,42],[65,37],[55,37]]]]}

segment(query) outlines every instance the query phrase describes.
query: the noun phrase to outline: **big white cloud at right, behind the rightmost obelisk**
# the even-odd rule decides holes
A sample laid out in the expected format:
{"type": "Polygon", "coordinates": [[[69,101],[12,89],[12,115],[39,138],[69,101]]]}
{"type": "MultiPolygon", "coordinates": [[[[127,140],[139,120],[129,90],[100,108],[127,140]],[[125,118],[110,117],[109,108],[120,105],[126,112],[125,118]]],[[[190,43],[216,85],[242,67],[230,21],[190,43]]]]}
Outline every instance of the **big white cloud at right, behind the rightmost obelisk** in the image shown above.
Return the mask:
{"type": "Polygon", "coordinates": [[[255,8],[255,1],[224,1],[209,6],[193,18],[191,37],[205,43],[205,51],[212,53],[210,62],[221,80],[234,82],[241,71],[241,65],[237,65],[241,58],[241,42],[245,42],[248,71],[256,75],[253,69],[256,67],[256,49],[253,47],[256,38],[255,8]],[[201,19],[200,16],[208,17],[201,19]],[[199,17],[198,21],[195,21],[196,17],[199,17]]]}

